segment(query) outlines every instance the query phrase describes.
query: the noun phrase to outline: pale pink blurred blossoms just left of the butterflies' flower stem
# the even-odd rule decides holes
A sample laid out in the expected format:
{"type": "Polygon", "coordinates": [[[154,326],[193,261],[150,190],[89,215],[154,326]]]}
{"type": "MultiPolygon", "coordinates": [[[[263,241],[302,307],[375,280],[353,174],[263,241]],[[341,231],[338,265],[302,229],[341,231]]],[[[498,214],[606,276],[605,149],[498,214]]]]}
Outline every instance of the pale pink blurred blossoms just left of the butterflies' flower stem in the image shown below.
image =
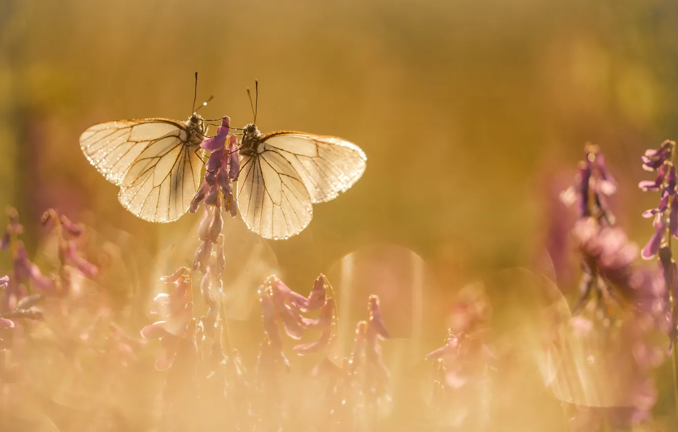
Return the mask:
{"type": "MultiPolygon", "coordinates": [[[[184,271],[184,267],[178,270],[184,271]]],[[[165,282],[174,281],[174,291],[171,294],[161,293],[155,297],[161,320],[148,324],[141,330],[144,339],[160,339],[163,350],[155,359],[155,368],[158,370],[171,367],[182,339],[191,337],[188,334],[189,324],[193,320],[191,276],[190,273],[188,276],[177,276],[176,273],[161,278],[165,282]]]]}

